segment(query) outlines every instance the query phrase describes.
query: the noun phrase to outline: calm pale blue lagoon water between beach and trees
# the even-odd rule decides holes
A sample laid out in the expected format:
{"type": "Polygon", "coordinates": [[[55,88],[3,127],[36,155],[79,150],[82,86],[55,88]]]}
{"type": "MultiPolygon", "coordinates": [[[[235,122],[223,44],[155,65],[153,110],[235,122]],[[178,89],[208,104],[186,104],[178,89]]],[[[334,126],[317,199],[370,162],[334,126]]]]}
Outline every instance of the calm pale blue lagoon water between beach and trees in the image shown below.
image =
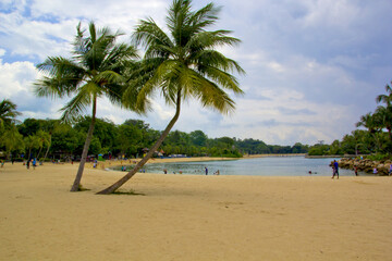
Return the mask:
{"type": "MultiPolygon", "coordinates": [[[[332,169],[329,166],[333,159],[306,159],[305,157],[267,157],[256,159],[240,159],[231,161],[204,161],[180,163],[152,163],[144,166],[145,172],[168,174],[208,175],[219,170],[220,175],[254,175],[254,176],[331,176],[332,169]]],[[[127,166],[130,169],[131,166],[127,166]]],[[[119,170],[119,169],[118,169],[119,170]]],[[[339,169],[341,176],[354,176],[354,171],[339,169]]],[[[359,175],[369,175],[358,173],[359,175]]]]}

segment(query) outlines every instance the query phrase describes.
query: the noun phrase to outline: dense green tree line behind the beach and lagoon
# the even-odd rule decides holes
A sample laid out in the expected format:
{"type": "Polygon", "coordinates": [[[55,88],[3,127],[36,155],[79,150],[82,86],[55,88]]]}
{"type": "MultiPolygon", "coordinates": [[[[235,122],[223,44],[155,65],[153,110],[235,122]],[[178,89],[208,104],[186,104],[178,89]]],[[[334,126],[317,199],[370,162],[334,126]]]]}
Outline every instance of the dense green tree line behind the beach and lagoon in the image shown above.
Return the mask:
{"type": "MultiPolygon", "coordinates": [[[[14,158],[24,159],[74,159],[79,160],[90,119],[82,117],[74,125],[61,123],[59,120],[26,119],[14,125],[14,132],[21,136],[19,146],[7,150],[3,144],[0,150],[9,151],[14,158]],[[28,157],[30,156],[30,157],[28,157]]],[[[3,133],[5,134],[5,133],[3,133]]],[[[8,135],[8,134],[5,134],[8,135]]],[[[117,125],[105,119],[97,119],[93,140],[89,147],[90,156],[135,158],[142,157],[161,135],[140,120],[126,120],[117,125]]],[[[5,140],[7,136],[2,137],[5,140]]],[[[211,157],[242,157],[244,153],[305,153],[308,146],[266,145],[261,140],[237,139],[230,137],[209,138],[203,130],[184,133],[171,132],[158,152],[163,156],[186,154],[211,157]]],[[[158,153],[155,154],[158,157],[158,153]]]]}

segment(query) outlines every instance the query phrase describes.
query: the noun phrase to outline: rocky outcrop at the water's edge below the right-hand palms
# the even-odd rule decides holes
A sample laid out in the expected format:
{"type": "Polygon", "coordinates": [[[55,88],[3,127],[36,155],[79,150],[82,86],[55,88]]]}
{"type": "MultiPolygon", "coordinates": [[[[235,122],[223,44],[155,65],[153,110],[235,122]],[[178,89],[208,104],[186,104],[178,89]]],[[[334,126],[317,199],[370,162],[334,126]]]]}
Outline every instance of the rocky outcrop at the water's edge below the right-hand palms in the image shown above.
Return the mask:
{"type": "Polygon", "coordinates": [[[379,175],[388,175],[390,164],[392,161],[371,161],[371,160],[360,160],[360,159],[350,159],[343,158],[339,160],[339,166],[342,169],[351,169],[353,170],[354,166],[358,169],[358,171],[363,171],[366,173],[372,173],[373,169],[376,167],[379,175]]]}

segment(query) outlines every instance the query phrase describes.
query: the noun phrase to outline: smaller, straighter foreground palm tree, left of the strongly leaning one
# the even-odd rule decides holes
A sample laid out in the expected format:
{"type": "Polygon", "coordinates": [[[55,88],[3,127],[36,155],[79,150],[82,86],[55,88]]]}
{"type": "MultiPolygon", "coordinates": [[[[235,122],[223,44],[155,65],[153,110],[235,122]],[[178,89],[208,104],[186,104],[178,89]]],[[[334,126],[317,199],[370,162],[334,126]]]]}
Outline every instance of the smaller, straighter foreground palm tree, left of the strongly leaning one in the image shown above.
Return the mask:
{"type": "Polygon", "coordinates": [[[93,138],[97,100],[106,96],[112,103],[121,104],[121,91],[125,80],[124,64],[137,57],[133,46],[115,44],[120,33],[112,34],[107,27],[97,30],[93,22],[88,26],[89,35],[85,35],[85,30],[81,29],[81,23],[76,29],[72,59],[49,57],[37,65],[47,76],[36,82],[36,95],[39,97],[62,98],[74,95],[61,109],[64,122],[74,122],[87,107],[91,105],[91,122],[71,191],[79,190],[93,138]]]}

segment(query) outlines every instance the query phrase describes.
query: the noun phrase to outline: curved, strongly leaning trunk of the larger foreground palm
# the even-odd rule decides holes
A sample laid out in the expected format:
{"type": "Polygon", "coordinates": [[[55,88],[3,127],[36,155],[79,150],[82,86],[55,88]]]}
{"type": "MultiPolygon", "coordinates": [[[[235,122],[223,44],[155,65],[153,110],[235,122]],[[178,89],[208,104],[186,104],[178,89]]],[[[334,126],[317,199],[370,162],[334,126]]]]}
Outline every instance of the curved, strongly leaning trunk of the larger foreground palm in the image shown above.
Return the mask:
{"type": "Polygon", "coordinates": [[[175,105],[176,105],[176,108],[175,108],[175,114],[174,114],[173,119],[170,121],[169,125],[166,127],[166,129],[163,130],[162,135],[157,140],[157,142],[150,148],[148,153],[136,164],[136,166],[132,171],[126,173],[125,176],[123,176],[117,183],[114,183],[113,185],[107,187],[106,189],[103,189],[97,194],[109,195],[109,194],[114,192],[118,188],[120,188],[122,185],[124,185],[124,183],[126,183],[128,179],[131,179],[131,177],[133,177],[137,173],[137,171],[140,170],[144,164],[146,164],[146,162],[151,158],[154,152],[158,150],[159,146],[161,146],[164,138],[168,136],[171,128],[174,126],[175,122],[179,120],[180,107],[181,107],[181,89],[177,92],[177,99],[176,99],[175,105]]]}

